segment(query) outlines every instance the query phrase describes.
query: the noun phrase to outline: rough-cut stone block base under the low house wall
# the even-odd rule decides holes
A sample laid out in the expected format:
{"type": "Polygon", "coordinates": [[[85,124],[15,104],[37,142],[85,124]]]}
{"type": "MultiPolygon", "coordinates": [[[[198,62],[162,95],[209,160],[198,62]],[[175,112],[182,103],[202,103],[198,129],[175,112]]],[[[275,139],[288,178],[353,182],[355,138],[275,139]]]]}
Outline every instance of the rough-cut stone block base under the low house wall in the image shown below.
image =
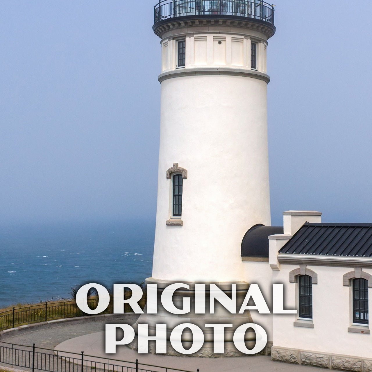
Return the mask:
{"type": "Polygon", "coordinates": [[[312,352],[273,346],[271,359],[278,362],[337,369],[340,371],[372,372],[372,359],[348,355],[312,352]]]}

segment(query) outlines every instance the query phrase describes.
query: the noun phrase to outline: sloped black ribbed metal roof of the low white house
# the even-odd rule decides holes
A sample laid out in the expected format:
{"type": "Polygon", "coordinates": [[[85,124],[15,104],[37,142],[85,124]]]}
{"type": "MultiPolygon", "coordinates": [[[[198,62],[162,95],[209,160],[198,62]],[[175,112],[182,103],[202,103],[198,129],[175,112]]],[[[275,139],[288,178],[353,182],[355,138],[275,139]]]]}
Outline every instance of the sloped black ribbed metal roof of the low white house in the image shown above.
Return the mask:
{"type": "Polygon", "coordinates": [[[372,224],[306,222],[279,253],[372,257],[372,224]]]}

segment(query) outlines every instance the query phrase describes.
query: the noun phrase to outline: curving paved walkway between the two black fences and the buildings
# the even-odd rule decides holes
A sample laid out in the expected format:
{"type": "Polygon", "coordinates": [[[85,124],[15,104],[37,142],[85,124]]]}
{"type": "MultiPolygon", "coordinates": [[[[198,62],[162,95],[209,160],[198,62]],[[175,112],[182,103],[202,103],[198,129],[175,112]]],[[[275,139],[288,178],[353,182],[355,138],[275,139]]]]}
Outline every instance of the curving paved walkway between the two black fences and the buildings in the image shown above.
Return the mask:
{"type": "MultiPolygon", "coordinates": [[[[90,321],[85,323],[64,323],[53,328],[41,328],[36,330],[23,330],[20,333],[1,337],[1,341],[23,344],[36,347],[44,347],[70,353],[92,355],[94,357],[107,357],[140,363],[165,366],[170,368],[186,369],[200,372],[317,372],[323,368],[299,366],[288,363],[272,362],[267,356],[244,356],[244,357],[221,357],[221,358],[197,358],[176,357],[165,355],[138,354],[126,346],[117,346],[116,355],[105,354],[105,323],[133,324],[137,316],[126,314],[121,321],[108,321],[108,319],[90,321]]],[[[60,352],[58,353],[60,354],[60,352]]],[[[111,362],[112,363],[112,362],[111,362]]],[[[116,364],[116,363],[114,363],[116,364]]],[[[118,363],[119,364],[119,363],[118,363]]]]}

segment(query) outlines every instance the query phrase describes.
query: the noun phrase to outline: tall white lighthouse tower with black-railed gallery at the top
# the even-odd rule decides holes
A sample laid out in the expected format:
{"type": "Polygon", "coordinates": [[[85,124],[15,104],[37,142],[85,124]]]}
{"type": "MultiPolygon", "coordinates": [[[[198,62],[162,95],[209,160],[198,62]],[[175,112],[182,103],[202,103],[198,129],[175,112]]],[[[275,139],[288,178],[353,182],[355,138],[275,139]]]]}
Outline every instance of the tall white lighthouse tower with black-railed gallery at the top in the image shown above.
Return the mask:
{"type": "MultiPolygon", "coordinates": [[[[161,39],[161,128],[147,283],[159,291],[174,282],[243,290],[241,241],[253,225],[270,225],[266,47],[276,30],[273,6],[163,0],[153,30],[161,39]]],[[[206,315],[209,323],[226,323],[229,315],[217,313],[206,315]]],[[[161,311],[152,317],[146,323],[171,322],[161,311]]]]}

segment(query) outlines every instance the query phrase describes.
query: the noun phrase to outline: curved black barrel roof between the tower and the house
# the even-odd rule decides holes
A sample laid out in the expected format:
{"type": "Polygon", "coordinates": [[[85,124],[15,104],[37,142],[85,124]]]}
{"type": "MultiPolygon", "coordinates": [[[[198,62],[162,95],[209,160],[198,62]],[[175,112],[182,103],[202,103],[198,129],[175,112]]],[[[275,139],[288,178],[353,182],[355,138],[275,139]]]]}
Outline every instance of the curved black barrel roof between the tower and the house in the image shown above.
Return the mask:
{"type": "Polygon", "coordinates": [[[254,225],[241,241],[241,256],[269,257],[269,235],[283,234],[283,226],[254,225]]]}

